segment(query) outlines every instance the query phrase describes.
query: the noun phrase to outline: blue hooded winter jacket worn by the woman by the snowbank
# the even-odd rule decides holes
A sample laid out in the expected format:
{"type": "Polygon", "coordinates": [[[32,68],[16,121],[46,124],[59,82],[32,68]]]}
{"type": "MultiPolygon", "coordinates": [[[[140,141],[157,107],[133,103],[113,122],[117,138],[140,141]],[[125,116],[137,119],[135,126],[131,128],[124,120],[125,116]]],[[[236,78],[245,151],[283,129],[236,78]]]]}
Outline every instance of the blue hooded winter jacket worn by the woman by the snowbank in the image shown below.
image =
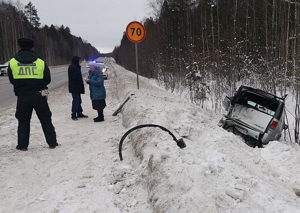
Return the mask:
{"type": "Polygon", "coordinates": [[[106,98],[106,91],[104,87],[104,78],[98,66],[94,72],[88,70],[89,96],[92,100],[101,100],[106,98]]]}

